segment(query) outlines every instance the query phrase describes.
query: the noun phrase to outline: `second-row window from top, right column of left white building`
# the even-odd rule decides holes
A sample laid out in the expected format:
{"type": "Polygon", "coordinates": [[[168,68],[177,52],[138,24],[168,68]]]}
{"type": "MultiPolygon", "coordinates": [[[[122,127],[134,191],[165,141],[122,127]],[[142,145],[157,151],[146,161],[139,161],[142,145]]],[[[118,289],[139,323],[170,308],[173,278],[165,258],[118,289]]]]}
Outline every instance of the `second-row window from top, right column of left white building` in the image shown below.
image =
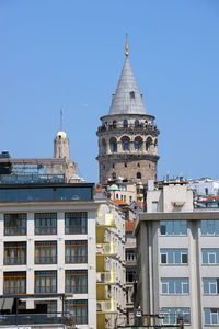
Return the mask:
{"type": "Polygon", "coordinates": [[[66,263],[88,262],[88,241],[70,240],[66,241],[66,263]]]}

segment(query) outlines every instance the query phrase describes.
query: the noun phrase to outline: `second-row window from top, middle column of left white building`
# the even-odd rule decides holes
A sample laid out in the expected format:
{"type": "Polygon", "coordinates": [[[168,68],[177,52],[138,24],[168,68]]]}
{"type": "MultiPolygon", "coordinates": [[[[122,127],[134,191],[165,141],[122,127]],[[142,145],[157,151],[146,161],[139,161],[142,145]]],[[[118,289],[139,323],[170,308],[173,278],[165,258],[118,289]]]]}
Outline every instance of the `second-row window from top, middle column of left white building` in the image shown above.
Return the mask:
{"type": "Polygon", "coordinates": [[[36,241],[35,242],[35,264],[56,264],[57,242],[36,241]]]}

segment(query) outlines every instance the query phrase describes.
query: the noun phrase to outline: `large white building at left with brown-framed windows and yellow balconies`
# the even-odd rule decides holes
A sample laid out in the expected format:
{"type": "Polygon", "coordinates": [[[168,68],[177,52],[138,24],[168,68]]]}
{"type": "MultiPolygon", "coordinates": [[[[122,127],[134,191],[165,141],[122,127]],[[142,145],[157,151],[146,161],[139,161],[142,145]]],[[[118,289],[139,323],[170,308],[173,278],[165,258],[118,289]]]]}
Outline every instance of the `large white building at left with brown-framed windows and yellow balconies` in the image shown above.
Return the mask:
{"type": "MultiPolygon", "coordinates": [[[[85,183],[0,184],[1,296],[23,297],[26,309],[47,304],[48,314],[65,311],[76,328],[100,328],[99,315],[113,317],[108,321],[115,328],[125,306],[125,227],[120,211],[94,200],[93,190],[85,183]],[[97,225],[104,237],[108,230],[101,248],[97,225]],[[97,253],[107,259],[104,275],[96,268],[97,253]],[[112,285],[112,296],[101,300],[100,285],[112,285]],[[65,309],[57,294],[65,294],[65,309]],[[41,297],[25,299],[26,295],[41,297]]],[[[3,319],[10,321],[10,315],[0,317],[0,328],[5,327],[3,319]]]]}

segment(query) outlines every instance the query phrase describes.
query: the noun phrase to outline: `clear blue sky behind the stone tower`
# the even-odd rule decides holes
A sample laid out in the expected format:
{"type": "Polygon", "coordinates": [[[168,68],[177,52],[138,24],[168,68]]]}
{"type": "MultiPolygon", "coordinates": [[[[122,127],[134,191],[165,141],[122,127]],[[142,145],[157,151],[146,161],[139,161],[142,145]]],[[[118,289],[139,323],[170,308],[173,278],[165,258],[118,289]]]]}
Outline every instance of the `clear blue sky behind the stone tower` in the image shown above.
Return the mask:
{"type": "Polygon", "coordinates": [[[161,131],[159,179],[218,178],[218,0],[0,0],[0,150],[51,157],[62,109],[71,158],[97,182],[95,132],[126,33],[161,131]]]}

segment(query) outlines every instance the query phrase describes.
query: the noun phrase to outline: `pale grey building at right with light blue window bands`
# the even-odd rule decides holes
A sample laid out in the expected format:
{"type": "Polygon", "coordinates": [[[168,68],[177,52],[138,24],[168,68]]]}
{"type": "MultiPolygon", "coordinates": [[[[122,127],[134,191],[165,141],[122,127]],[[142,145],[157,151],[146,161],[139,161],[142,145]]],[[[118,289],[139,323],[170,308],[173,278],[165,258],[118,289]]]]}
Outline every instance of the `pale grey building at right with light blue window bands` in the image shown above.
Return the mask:
{"type": "Polygon", "coordinates": [[[151,322],[219,327],[219,212],[194,209],[183,180],[150,185],[148,213],[139,215],[136,306],[151,322]]]}

